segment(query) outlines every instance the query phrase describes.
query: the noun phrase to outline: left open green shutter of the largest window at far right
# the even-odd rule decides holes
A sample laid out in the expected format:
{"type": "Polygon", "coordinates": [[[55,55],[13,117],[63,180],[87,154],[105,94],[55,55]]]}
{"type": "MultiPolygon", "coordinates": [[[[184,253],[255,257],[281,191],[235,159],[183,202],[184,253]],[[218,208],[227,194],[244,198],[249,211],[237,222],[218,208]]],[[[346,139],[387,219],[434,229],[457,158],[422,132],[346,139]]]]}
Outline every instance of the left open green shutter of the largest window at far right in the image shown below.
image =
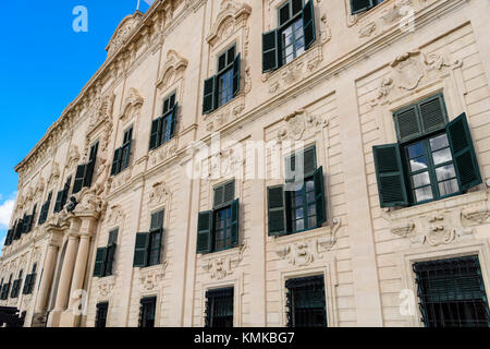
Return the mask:
{"type": "Polygon", "coordinates": [[[399,144],[373,146],[372,154],[381,207],[407,206],[408,198],[399,144]]]}

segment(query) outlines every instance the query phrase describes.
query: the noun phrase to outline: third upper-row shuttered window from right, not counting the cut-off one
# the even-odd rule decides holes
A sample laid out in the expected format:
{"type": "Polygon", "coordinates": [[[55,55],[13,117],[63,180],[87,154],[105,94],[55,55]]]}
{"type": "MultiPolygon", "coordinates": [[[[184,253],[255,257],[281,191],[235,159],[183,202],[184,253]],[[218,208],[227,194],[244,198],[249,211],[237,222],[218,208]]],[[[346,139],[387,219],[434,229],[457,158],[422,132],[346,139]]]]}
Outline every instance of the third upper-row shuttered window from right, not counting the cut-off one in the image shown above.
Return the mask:
{"type": "Polygon", "coordinates": [[[179,104],[175,103],[175,94],[163,100],[162,116],[151,123],[149,149],[156,149],[169,142],[175,135],[179,104]]]}

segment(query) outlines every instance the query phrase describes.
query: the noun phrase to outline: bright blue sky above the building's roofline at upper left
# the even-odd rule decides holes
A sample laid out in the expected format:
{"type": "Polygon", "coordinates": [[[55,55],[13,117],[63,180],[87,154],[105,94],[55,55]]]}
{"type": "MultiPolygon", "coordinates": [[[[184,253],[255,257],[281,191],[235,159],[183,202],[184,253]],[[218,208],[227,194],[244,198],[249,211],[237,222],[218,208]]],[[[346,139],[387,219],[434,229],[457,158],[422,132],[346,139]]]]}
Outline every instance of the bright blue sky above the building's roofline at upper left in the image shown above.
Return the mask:
{"type": "MultiPolygon", "coordinates": [[[[0,33],[0,248],[17,185],[17,165],[106,59],[118,24],[137,0],[2,1],[0,33]],[[88,11],[75,33],[73,9],[88,11]]],[[[148,4],[142,0],[140,10],[148,4]]]]}

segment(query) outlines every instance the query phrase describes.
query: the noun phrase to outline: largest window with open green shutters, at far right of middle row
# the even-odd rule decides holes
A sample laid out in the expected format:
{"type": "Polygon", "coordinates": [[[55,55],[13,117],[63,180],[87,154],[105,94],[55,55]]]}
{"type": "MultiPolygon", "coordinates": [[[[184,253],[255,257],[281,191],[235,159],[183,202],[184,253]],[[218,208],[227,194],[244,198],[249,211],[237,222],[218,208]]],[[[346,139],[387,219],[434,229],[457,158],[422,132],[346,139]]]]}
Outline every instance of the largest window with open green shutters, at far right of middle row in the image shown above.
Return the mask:
{"type": "Polygon", "coordinates": [[[396,111],[394,122],[399,143],[372,148],[381,207],[422,204],[481,183],[466,115],[448,122],[442,95],[396,111]]]}

